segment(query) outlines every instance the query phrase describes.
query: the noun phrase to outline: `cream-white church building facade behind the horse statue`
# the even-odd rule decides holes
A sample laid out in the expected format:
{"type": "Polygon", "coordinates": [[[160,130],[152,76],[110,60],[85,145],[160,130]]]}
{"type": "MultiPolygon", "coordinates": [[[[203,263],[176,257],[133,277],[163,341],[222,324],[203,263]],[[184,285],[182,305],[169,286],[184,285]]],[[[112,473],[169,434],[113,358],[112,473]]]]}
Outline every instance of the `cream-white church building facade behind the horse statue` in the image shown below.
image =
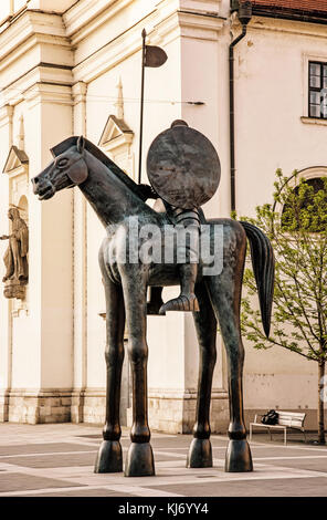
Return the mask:
{"type": "MultiPolygon", "coordinates": [[[[309,64],[319,64],[324,77],[327,63],[327,2],[317,2],[326,3],[325,18],[321,8],[306,21],[261,6],[272,3],[278,4],[253,2],[246,35],[234,49],[240,216],[271,200],[276,168],[327,174],[327,119],[313,116],[308,103],[309,64]]],[[[241,24],[230,0],[10,0],[1,2],[0,18],[0,233],[8,233],[10,204],[22,208],[30,230],[25,299],[0,293],[0,420],[103,423],[105,301],[97,252],[104,229],[77,188],[40,202],[30,179],[50,163],[52,146],[84,135],[137,180],[145,28],[147,43],[165,49],[168,60],[146,70],[144,157],[173,119],[186,119],[211,139],[222,165],[204,212],[229,216],[229,46],[241,24]]],[[[1,257],[4,250],[0,242],[1,257]]],[[[198,378],[192,316],[149,316],[148,343],[150,427],[190,431],[198,378]]],[[[245,343],[245,350],[247,419],[257,410],[300,408],[314,427],[315,363],[277,347],[262,352],[245,343]]],[[[127,356],[122,408],[127,424],[127,356]]],[[[229,404],[219,335],[211,416],[212,429],[224,431],[229,404]]]]}

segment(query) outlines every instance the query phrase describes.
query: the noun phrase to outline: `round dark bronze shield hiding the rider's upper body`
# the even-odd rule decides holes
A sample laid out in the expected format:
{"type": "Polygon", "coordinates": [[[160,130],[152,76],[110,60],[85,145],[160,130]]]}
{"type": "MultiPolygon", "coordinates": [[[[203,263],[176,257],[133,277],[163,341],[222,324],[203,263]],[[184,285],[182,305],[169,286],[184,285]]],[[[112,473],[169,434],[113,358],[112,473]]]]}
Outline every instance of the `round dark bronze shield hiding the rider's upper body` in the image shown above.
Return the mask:
{"type": "Polygon", "coordinates": [[[152,142],[147,173],[157,194],[171,206],[200,207],[220,181],[220,160],[210,141],[189,126],[166,129],[152,142]]]}

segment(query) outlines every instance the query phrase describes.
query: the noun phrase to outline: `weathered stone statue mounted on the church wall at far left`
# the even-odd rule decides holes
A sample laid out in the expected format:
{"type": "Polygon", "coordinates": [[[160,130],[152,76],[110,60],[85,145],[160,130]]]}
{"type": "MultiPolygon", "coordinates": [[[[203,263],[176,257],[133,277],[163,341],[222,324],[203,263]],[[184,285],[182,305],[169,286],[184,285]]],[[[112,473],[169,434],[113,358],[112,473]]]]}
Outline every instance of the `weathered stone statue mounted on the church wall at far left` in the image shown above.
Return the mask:
{"type": "Polygon", "coordinates": [[[24,299],[25,285],[29,280],[29,228],[20,217],[17,206],[11,205],[8,210],[8,218],[11,220],[11,233],[2,235],[0,240],[9,240],[3,262],[6,274],[3,294],[6,298],[24,299]]]}

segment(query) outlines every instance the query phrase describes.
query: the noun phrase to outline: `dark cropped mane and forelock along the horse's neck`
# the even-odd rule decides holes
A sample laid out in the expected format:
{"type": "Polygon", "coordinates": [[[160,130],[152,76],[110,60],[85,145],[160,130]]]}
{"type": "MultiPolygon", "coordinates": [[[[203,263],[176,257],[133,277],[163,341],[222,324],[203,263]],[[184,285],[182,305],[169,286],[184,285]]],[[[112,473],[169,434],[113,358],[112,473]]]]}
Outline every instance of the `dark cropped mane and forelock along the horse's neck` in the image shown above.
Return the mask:
{"type": "MultiPolygon", "coordinates": [[[[76,135],[67,137],[56,146],[53,146],[50,152],[52,153],[53,157],[57,157],[72,146],[76,146],[77,139],[78,136],[76,135]]],[[[138,198],[141,198],[138,185],[127,174],[125,174],[125,171],[119,168],[119,166],[117,166],[112,159],[109,159],[109,157],[105,155],[97,146],[91,143],[91,141],[86,139],[85,137],[84,141],[85,148],[87,149],[87,152],[89,152],[94,157],[96,157],[104,165],[106,165],[107,168],[109,168],[113,174],[115,174],[135,195],[137,195],[138,198]]]]}

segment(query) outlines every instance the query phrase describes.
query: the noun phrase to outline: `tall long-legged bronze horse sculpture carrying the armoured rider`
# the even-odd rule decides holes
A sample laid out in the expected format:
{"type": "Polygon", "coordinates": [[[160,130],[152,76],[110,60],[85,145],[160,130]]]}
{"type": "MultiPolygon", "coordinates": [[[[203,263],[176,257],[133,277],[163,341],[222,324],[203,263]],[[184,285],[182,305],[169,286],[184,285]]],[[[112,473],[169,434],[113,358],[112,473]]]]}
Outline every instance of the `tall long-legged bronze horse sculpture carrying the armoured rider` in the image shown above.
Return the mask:
{"type": "MultiPolygon", "coordinates": [[[[70,137],[52,148],[54,160],[32,179],[34,194],[41,200],[56,191],[78,186],[106,229],[99,249],[99,267],[106,297],[106,422],[103,443],[95,464],[96,472],[123,471],[119,443],[119,399],[124,360],[124,327],[127,320],[128,355],[133,374],[133,426],[125,476],[155,475],[150,429],[147,418],[146,341],[147,288],[179,284],[176,264],[119,262],[119,252],[128,233],[128,219],[138,217],[139,225],[152,223],[160,229],[167,215],[145,204],[136,185],[115,163],[84,137],[70,137]]],[[[268,334],[274,283],[274,256],[265,235],[255,226],[232,219],[207,222],[223,227],[223,269],[205,277],[202,266],[196,285],[200,311],[193,313],[200,347],[197,417],[187,465],[211,467],[210,398],[215,364],[215,336],[219,321],[228,355],[230,426],[225,471],[252,471],[252,457],[246,441],[243,417],[244,349],[240,332],[242,277],[250,240],[252,262],[259,288],[261,313],[268,334]]],[[[139,247],[136,243],[134,247],[139,247]]],[[[124,246],[125,247],[125,246],[124,246]]]]}

